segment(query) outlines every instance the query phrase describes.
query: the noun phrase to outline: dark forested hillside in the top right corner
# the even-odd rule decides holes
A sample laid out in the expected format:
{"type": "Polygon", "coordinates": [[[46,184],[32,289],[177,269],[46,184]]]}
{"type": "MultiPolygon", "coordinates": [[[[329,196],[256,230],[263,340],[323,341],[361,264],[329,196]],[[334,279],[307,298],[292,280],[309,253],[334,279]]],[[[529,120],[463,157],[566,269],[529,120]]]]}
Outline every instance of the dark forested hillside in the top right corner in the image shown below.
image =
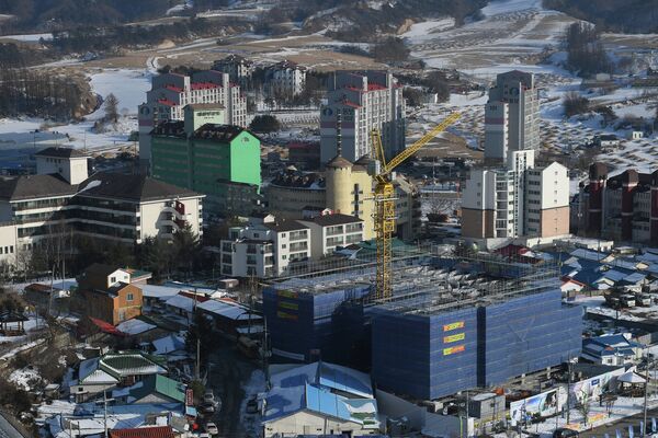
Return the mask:
{"type": "Polygon", "coordinates": [[[544,7],[609,32],[658,33],[658,0],[544,0],[544,7]]]}

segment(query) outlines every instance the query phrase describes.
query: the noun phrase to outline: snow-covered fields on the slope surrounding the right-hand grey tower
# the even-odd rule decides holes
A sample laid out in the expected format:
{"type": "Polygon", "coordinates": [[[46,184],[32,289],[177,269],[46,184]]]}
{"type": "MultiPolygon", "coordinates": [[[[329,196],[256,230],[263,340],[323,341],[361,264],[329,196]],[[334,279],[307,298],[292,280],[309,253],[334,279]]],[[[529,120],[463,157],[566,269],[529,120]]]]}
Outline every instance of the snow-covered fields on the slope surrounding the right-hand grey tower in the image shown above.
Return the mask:
{"type": "MultiPolygon", "coordinates": [[[[428,66],[456,68],[467,78],[488,87],[496,74],[510,70],[535,73],[541,91],[541,132],[543,143],[557,153],[570,153],[591,142],[601,134],[615,134],[620,147],[604,150],[599,160],[612,166],[613,173],[627,166],[649,172],[658,163],[657,135],[639,140],[628,140],[628,130],[615,130],[605,126],[602,116],[591,113],[566,118],[563,100],[569,92],[586,95],[593,105],[611,105],[619,120],[627,116],[651,119],[656,112],[656,96],[647,99],[650,90],[622,85],[619,90],[602,93],[600,90],[581,90],[580,78],[560,67],[566,59],[564,51],[556,51],[546,64],[538,64],[540,55],[547,46],[559,48],[561,35],[575,20],[556,11],[544,10],[541,0],[494,0],[481,10],[485,16],[462,27],[454,27],[450,20],[431,20],[417,23],[402,35],[412,56],[423,59],[428,66]]],[[[605,36],[604,36],[605,37],[605,36]]],[[[658,45],[650,35],[626,36],[628,41],[658,45]]],[[[614,58],[624,45],[609,45],[614,58]]],[[[651,56],[650,54],[646,56],[651,56]]],[[[625,78],[617,78],[617,82],[625,78]]],[[[656,93],[656,91],[654,91],[656,93]]],[[[450,130],[462,136],[472,148],[484,138],[484,104],[486,93],[451,95],[450,102],[429,105],[418,112],[419,129],[427,129],[447,112],[458,111],[462,118],[450,130]]],[[[617,120],[617,122],[619,122],[617,120]]],[[[409,124],[413,127],[415,124],[409,124]]],[[[572,191],[578,181],[571,184],[572,191]]]]}

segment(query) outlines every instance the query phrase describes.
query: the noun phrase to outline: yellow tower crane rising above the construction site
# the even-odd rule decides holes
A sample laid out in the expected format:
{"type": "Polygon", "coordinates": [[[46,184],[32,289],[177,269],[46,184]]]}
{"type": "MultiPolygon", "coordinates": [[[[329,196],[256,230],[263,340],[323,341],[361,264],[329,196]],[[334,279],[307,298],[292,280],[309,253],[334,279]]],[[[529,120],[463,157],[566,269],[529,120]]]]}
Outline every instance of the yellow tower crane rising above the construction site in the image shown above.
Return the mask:
{"type": "Polygon", "coordinates": [[[430,142],[440,132],[460,118],[460,113],[452,113],[445,120],[436,125],[420,140],[406,148],[390,161],[386,161],[379,130],[373,129],[371,139],[375,158],[379,161],[379,172],[375,178],[375,235],[377,241],[377,275],[374,300],[390,298],[393,285],[390,284],[390,265],[393,262],[392,235],[395,231],[395,189],[390,181],[390,172],[405,160],[416,153],[420,148],[430,142]]]}

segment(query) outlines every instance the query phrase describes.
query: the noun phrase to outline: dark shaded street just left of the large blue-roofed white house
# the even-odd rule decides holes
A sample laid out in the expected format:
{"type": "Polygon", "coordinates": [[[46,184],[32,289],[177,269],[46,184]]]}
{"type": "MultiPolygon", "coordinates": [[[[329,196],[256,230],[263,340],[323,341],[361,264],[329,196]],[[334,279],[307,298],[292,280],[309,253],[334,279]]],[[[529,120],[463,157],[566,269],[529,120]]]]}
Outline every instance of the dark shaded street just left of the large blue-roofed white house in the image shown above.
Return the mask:
{"type": "Polygon", "coordinates": [[[245,437],[241,428],[240,406],[245,397],[243,384],[257,365],[242,356],[235,342],[218,337],[217,348],[209,355],[209,371],[206,387],[222,400],[222,410],[212,420],[220,437],[245,437]]]}

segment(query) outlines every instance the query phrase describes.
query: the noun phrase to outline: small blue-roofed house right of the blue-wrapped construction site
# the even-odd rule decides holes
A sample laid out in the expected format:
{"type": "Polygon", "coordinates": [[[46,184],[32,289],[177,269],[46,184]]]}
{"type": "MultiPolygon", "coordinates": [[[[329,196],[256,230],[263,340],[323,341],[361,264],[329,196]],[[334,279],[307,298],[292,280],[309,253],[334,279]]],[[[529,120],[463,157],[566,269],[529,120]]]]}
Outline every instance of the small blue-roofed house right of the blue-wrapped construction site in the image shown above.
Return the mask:
{"type": "Polygon", "coordinates": [[[642,358],[644,346],[631,341],[631,334],[590,337],[582,341],[581,357],[598,365],[623,366],[642,358]]]}

